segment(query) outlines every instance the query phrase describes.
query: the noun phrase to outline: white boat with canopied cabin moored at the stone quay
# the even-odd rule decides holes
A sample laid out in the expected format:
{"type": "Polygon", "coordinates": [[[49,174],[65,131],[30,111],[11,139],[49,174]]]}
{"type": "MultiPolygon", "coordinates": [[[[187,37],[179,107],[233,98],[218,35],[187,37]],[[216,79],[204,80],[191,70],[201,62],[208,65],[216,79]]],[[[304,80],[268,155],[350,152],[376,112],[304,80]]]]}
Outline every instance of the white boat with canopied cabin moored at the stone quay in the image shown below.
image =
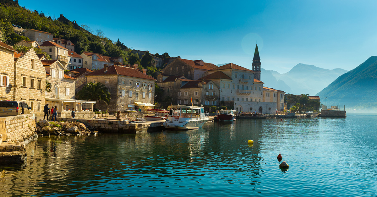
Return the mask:
{"type": "Polygon", "coordinates": [[[169,129],[198,129],[209,120],[208,113],[204,112],[203,107],[171,105],[167,120],[162,124],[169,129]]]}

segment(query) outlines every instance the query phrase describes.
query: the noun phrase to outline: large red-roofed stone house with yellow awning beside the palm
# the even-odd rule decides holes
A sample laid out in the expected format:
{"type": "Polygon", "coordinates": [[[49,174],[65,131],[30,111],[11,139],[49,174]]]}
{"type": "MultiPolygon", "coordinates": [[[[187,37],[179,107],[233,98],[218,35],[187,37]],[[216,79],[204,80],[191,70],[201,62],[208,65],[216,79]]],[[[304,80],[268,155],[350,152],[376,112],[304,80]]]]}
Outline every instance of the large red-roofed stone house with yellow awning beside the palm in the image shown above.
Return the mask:
{"type": "Polygon", "coordinates": [[[128,109],[128,105],[154,106],[156,80],[135,68],[112,65],[85,76],[87,83],[100,82],[109,89],[109,105],[99,102],[96,104],[98,109],[108,109],[110,113],[115,113],[128,109]]]}

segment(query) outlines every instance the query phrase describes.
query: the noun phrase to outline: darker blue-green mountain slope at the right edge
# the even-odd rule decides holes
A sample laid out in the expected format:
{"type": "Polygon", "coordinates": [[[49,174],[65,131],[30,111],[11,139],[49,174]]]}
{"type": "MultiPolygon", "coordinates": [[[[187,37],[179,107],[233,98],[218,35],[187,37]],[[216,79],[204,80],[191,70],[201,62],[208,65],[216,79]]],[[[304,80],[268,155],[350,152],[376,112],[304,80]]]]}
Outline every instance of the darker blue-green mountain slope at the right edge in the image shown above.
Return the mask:
{"type": "MultiPolygon", "coordinates": [[[[327,97],[327,105],[346,105],[346,108],[377,109],[377,56],[369,57],[360,66],[341,75],[318,92],[327,97]]],[[[323,102],[322,102],[323,103],[323,102]]]]}

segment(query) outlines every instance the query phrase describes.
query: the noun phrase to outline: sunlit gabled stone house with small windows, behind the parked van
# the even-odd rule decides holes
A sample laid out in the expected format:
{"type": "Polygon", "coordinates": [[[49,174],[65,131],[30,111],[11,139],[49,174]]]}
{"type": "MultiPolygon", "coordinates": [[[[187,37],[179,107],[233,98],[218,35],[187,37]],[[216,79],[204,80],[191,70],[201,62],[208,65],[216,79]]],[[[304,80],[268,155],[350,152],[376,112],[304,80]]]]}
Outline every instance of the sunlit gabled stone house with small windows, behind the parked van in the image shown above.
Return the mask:
{"type": "Polygon", "coordinates": [[[35,115],[43,115],[46,72],[34,48],[15,57],[13,87],[13,100],[26,102],[35,115]]]}

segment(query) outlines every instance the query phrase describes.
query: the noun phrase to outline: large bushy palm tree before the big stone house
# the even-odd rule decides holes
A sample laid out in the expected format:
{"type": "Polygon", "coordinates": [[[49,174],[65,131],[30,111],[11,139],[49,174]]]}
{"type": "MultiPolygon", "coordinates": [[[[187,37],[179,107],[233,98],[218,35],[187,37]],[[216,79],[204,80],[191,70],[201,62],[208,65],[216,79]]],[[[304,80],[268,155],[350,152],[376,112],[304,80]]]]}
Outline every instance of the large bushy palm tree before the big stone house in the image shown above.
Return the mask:
{"type": "MultiPolygon", "coordinates": [[[[110,103],[110,92],[102,83],[89,82],[83,89],[77,92],[77,98],[81,100],[90,101],[104,101],[106,104],[110,103]]],[[[94,104],[95,108],[95,104],[94,104]]]]}

